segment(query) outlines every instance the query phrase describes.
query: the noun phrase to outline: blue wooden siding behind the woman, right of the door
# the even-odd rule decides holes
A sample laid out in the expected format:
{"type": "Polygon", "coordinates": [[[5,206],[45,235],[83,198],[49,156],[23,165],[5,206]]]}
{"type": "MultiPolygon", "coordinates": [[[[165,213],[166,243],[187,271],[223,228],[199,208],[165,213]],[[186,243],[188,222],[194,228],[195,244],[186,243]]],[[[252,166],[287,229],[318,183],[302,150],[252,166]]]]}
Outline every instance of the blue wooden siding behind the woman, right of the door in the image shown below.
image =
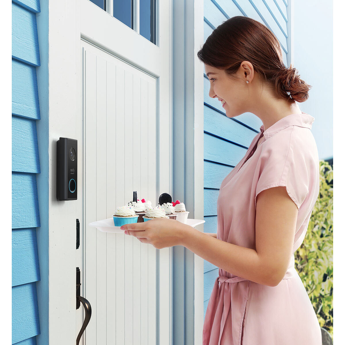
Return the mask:
{"type": "MultiPolygon", "coordinates": [[[[287,66],[287,3],[284,0],[204,0],[204,42],[223,21],[234,16],[253,18],[279,40],[287,66]]],[[[210,82],[204,75],[204,231],[217,232],[219,187],[245,155],[262,122],[245,113],[228,118],[217,98],[208,96],[210,82]]],[[[204,260],[204,317],[218,277],[218,267],[204,260]]]]}

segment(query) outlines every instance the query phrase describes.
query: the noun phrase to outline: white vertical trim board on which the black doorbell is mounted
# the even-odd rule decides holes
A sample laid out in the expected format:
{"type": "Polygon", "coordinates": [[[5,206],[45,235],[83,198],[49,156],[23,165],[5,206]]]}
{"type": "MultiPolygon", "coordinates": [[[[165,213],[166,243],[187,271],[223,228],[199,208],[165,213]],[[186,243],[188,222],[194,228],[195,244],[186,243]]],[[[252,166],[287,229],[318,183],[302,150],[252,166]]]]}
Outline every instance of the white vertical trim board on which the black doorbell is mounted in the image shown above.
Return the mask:
{"type": "MultiPolygon", "coordinates": [[[[41,230],[49,231],[47,303],[52,345],[76,339],[76,218],[81,215],[82,188],[77,190],[78,200],[56,199],[56,141],[77,139],[81,148],[79,8],[80,0],[49,1],[49,161],[43,162],[49,165],[49,228],[41,230]]],[[[80,186],[81,171],[77,172],[80,186]]]]}

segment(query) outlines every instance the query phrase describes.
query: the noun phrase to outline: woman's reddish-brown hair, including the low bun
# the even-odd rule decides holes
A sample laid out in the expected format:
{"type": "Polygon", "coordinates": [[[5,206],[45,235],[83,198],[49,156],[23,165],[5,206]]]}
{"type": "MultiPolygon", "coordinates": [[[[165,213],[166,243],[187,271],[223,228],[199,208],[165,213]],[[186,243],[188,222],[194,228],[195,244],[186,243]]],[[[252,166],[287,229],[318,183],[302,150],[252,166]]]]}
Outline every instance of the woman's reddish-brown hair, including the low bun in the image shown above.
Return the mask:
{"type": "Polygon", "coordinates": [[[206,65],[225,69],[233,76],[243,61],[252,63],[262,80],[276,91],[277,97],[304,102],[312,87],[299,78],[296,68],[286,68],[278,39],[262,23],[235,16],[221,23],[198,51],[206,65]]]}

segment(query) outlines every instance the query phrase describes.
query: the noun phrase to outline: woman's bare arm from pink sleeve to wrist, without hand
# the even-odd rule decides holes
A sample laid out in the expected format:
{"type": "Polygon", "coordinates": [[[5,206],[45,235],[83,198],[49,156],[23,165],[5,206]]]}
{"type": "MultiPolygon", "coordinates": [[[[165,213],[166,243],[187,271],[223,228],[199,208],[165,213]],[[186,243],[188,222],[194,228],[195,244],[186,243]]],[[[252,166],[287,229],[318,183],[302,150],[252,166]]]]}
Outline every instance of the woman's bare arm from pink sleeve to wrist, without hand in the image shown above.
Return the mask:
{"type": "Polygon", "coordinates": [[[185,225],[181,243],[211,264],[258,284],[276,286],[292,255],[298,209],[285,187],[265,189],[256,203],[255,244],[246,248],[185,225]]]}

